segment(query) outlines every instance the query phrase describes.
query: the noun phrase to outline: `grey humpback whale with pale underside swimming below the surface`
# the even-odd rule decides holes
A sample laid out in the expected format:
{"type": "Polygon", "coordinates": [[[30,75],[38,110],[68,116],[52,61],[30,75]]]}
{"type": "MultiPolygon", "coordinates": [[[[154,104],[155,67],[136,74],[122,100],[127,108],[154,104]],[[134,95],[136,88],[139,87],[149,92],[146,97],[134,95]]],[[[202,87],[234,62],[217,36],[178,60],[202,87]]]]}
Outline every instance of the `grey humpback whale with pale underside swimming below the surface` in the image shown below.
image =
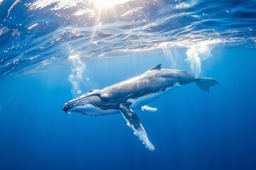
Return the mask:
{"type": "Polygon", "coordinates": [[[63,105],[65,113],[82,113],[83,115],[103,116],[122,114],[127,126],[132,128],[134,135],[142,140],[149,149],[154,150],[142,121],[134,112],[155,112],[157,108],[147,106],[148,103],[163,96],[183,84],[195,82],[199,89],[209,91],[210,86],[218,84],[213,78],[196,77],[196,75],[179,69],[162,69],[156,65],[137,77],[120,81],[103,89],[93,89],[63,105]]]}

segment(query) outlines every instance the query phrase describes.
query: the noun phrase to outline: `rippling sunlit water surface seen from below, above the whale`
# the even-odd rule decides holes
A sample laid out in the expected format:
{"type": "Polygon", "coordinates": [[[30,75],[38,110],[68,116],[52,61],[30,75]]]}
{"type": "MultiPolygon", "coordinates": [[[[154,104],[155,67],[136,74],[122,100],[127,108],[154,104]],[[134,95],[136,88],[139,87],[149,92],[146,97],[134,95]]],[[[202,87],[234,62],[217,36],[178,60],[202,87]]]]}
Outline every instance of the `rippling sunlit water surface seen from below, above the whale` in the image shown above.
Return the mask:
{"type": "Polygon", "coordinates": [[[1,79],[78,58],[152,50],[168,56],[177,48],[186,48],[192,71],[199,74],[213,47],[255,47],[255,1],[0,3],[1,79]]]}

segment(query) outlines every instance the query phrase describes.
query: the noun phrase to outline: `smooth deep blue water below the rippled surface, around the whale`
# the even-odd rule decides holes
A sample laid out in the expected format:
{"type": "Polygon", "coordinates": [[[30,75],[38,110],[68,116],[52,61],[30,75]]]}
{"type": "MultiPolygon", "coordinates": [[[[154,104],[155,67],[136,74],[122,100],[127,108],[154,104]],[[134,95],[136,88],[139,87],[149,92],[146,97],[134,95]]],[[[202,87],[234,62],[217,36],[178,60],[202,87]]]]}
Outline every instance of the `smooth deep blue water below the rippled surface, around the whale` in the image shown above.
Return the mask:
{"type": "MultiPolygon", "coordinates": [[[[256,50],[215,49],[203,77],[210,93],[181,86],[136,111],[156,150],[132,135],[122,115],[66,115],[70,67],[0,81],[0,169],[256,169],[256,50]]],[[[87,62],[89,88],[159,64],[161,56],[87,62]]]]}

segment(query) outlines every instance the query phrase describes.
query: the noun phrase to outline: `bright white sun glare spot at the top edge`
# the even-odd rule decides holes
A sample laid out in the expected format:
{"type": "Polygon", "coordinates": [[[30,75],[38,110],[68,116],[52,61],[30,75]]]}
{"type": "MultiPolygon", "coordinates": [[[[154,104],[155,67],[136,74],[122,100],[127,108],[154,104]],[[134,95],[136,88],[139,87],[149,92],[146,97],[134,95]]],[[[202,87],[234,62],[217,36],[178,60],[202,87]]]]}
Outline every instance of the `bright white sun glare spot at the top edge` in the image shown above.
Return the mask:
{"type": "Polygon", "coordinates": [[[127,1],[129,0],[92,0],[92,3],[96,8],[113,8],[114,6],[124,4],[127,1]]]}

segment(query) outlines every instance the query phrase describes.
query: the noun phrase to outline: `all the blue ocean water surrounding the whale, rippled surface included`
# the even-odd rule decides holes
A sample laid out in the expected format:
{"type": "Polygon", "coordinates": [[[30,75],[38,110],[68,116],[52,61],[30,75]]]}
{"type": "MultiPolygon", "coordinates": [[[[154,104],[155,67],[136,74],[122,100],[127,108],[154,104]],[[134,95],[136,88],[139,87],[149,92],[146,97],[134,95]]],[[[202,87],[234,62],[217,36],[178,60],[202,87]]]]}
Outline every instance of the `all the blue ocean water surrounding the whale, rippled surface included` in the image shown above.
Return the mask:
{"type": "Polygon", "coordinates": [[[256,169],[256,1],[0,0],[0,169],[256,169]],[[213,77],[122,115],[63,103],[162,64],[213,77]]]}

